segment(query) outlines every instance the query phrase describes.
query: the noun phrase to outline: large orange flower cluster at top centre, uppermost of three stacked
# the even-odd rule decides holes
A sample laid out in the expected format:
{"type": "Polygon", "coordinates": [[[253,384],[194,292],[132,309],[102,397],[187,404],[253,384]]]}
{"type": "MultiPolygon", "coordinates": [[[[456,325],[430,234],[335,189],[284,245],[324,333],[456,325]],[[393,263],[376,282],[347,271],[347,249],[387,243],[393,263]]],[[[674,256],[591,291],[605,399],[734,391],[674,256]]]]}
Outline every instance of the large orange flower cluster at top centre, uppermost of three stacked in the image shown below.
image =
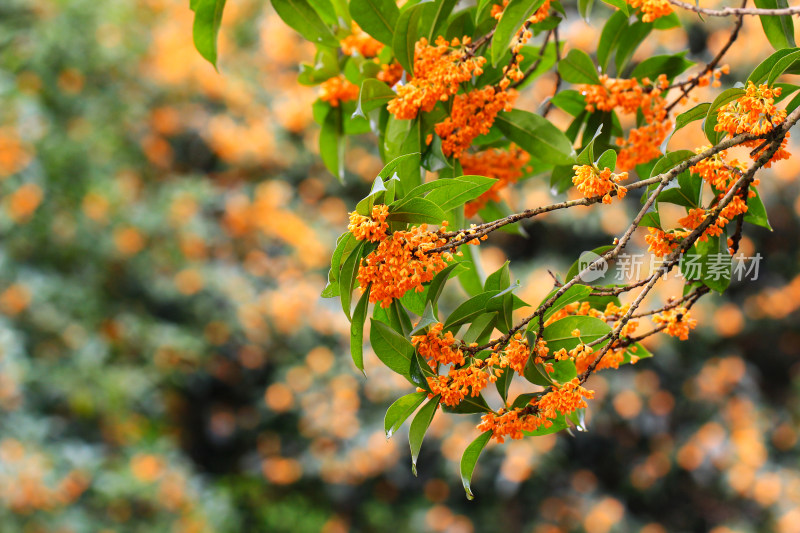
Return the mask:
{"type": "MultiPolygon", "coordinates": [[[[468,44],[465,37],[463,44],[468,44]]],[[[411,120],[421,111],[431,111],[439,101],[447,101],[458,93],[460,84],[483,74],[486,58],[469,57],[457,48],[462,42],[443,37],[431,46],[424,37],[414,46],[414,77],[397,87],[397,96],[387,109],[398,119],[411,120]]]]}

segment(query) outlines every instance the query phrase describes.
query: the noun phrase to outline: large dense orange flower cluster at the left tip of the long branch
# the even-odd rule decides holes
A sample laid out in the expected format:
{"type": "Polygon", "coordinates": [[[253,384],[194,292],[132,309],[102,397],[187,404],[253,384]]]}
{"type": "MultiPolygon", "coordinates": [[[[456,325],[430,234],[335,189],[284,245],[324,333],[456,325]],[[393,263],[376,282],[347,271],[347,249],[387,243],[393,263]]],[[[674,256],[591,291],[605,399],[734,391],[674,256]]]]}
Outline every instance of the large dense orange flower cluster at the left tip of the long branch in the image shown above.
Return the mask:
{"type": "MultiPolygon", "coordinates": [[[[442,223],[442,228],[446,222],[442,223]]],[[[428,231],[427,224],[408,231],[395,231],[378,244],[378,249],[361,260],[358,282],[363,290],[372,284],[369,301],[389,307],[392,300],[407,291],[422,292],[423,283],[433,279],[447,266],[452,256],[447,252],[426,251],[447,244],[441,235],[428,231]]]]}

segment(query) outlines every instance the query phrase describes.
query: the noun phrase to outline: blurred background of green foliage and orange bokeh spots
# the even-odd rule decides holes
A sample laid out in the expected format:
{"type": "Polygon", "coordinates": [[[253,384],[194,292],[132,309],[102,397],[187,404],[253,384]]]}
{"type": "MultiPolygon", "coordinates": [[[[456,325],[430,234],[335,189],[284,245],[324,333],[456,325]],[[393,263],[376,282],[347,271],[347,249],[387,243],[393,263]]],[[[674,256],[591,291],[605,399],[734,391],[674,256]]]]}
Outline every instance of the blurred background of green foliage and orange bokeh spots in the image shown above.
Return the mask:
{"type": "MultiPolygon", "coordinates": [[[[567,7],[565,40],[590,50],[601,22],[567,7]]],[[[758,280],[706,298],[690,341],[593,377],[589,432],[487,448],[467,501],[477,416],[437,414],[412,476],[404,431],[382,431],[408,384],[370,353],[364,379],[318,296],[382,166],[374,139],[351,139],[339,184],[296,81],[313,49],[267,2],[231,0],[216,72],[191,20],[185,0],[0,2],[0,531],[800,531],[796,160],[762,177],[758,280]]],[[[708,60],[731,24],[684,20],[636,57],[708,60]]],[[[749,19],[723,81],[770,52],[749,19]]],[[[703,144],[694,126],[670,148],[703,144]]],[[[552,199],[546,178],[507,196],[552,199]]],[[[547,269],[635,205],[493,237],[484,269],[512,259],[538,302],[547,269]]]]}

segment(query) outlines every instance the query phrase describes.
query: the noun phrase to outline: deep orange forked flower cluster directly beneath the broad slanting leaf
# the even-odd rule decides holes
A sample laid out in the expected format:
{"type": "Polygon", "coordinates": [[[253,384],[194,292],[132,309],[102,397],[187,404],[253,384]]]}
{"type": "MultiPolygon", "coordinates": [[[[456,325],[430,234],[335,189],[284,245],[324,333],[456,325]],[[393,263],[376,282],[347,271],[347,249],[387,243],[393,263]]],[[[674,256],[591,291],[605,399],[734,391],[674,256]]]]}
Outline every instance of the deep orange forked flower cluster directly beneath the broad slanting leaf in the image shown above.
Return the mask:
{"type": "Polygon", "coordinates": [[[516,183],[522,177],[523,167],[528,164],[529,160],[528,152],[513,144],[508,150],[490,148],[482,152],[461,154],[461,168],[464,174],[486,176],[497,180],[491,189],[471,202],[467,202],[464,206],[464,214],[467,217],[475,216],[490,200],[498,200],[500,191],[516,183]]]}

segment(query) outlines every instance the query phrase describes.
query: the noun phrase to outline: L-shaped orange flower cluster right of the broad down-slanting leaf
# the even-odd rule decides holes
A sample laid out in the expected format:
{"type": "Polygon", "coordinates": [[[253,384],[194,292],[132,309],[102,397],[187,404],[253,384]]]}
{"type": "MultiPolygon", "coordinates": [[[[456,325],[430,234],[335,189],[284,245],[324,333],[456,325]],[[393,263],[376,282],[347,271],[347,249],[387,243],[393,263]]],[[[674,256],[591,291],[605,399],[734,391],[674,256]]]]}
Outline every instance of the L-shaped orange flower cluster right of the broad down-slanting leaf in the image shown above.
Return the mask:
{"type": "Polygon", "coordinates": [[[630,131],[627,139],[617,139],[621,147],[617,166],[630,170],[658,157],[660,144],[672,129],[667,120],[666,102],[662,96],[669,82],[661,75],[655,82],[644,78],[637,80],[600,76],[599,85],[581,85],[579,90],[586,101],[586,110],[594,112],[620,110],[632,114],[641,110],[645,125],[630,131]]]}

